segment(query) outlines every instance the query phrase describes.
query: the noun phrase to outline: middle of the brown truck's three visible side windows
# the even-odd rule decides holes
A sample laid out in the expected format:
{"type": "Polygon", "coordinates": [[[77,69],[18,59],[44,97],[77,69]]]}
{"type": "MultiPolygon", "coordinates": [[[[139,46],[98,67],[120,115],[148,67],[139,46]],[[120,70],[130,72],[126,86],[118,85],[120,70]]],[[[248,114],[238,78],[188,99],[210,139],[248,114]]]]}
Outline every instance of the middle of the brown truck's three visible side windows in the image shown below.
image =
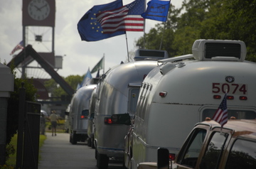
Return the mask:
{"type": "Polygon", "coordinates": [[[200,168],[215,169],[218,168],[228,134],[214,132],[206,148],[206,153],[201,160],[200,168]]]}

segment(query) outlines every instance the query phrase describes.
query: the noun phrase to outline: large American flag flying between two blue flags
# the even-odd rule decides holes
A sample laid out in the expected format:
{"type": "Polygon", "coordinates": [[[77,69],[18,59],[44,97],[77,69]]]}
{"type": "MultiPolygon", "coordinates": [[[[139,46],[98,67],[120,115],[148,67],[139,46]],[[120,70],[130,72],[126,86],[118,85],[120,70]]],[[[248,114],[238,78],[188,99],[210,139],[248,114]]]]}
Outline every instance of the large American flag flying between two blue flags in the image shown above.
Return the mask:
{"type": "Polygon", "coordinates": [[[136,0],[118,9],[97,13],[96,17],[103,33],[144,31],[144,18],[141,16],[144,10],[145,0],[136,0]]]}

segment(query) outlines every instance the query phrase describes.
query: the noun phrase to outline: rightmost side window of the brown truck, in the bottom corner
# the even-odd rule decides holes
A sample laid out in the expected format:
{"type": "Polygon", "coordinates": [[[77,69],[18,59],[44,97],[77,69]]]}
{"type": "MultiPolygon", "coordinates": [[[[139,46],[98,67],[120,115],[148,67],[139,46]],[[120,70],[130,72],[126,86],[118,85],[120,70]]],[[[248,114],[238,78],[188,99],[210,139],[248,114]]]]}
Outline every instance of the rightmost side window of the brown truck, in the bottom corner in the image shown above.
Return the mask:
{"type": "Polygon", "coordinates": [[[256,166],[256,143],[238,139],[233,144],[233,147],[228,156],[228,161],[225,168],[248,168],[252,169],[256,166]]]}

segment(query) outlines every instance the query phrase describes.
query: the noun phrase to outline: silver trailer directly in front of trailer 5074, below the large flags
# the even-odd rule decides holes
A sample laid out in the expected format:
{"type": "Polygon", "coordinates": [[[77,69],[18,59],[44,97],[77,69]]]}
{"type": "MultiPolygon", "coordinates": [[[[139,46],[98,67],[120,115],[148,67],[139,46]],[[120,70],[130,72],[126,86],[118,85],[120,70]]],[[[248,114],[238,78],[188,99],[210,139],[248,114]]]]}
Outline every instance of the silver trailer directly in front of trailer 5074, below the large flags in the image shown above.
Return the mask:
{"type": "Polygon", "coordinates": [[[94,119],[97,168],[107,168],[110,158],[123,160],[124,136],[129,126],[116,124],[111,116],[134,116],[139,87],[157,66],[156,60],[163,58],[168,58],[164,50],[138,50],[136,61],[117,65],[102,75],[97,86],[94,119]]]}

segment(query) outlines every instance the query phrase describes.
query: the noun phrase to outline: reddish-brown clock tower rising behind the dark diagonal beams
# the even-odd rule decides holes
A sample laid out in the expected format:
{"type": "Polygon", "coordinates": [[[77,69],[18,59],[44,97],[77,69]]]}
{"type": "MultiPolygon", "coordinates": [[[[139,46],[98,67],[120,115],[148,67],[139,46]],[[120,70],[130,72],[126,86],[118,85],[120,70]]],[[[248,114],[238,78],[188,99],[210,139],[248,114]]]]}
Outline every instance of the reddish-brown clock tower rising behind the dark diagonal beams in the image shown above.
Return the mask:
{"type": "Polygon", "coordinates": [[[23,0],[22,26],[24,46],[32,45],[54,68],[55,0],[23,0]]]}

